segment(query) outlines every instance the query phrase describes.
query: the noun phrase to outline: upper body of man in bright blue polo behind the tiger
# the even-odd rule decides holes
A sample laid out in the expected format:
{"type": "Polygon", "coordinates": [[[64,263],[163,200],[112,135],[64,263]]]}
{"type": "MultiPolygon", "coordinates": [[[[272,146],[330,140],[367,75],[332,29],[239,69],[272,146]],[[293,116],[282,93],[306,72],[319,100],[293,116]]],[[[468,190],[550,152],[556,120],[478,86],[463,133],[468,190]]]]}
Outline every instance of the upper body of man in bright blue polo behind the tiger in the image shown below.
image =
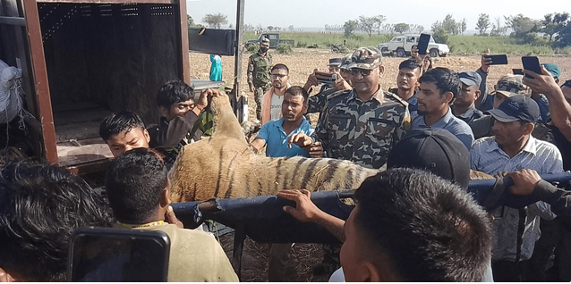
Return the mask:
{"type": "Polygon", "coordinates": [[[309,157],[309,153],[301,147],[287,146],[287,140],[291,135],[303,132],[309,136],[314,131],[311,124],[303,116],[307,112],[307,101],[308,94],[303,88],[299,86],[288,88],[282,103],[282,117],[277,121],[266,122],[261,127],[258,137],[251,142],[251,146],[256,151],[267,146],[266,155],[268,157],[291,157],[295,155],[309,157]]]}

